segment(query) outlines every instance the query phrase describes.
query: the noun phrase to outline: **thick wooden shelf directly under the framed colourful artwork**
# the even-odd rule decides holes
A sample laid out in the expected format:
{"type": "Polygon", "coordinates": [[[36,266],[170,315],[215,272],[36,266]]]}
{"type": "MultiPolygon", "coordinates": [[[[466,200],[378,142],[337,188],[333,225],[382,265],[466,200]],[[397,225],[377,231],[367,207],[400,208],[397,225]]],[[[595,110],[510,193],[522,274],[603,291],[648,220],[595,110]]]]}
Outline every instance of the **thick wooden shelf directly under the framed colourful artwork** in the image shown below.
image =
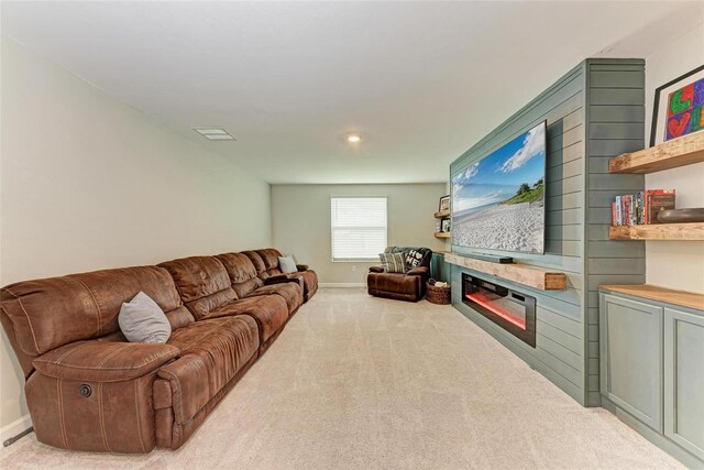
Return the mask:
{"type": "Polygon", "coordinates": [[[656,173],[704,162],[704,132],[695,132],[608,162],[609,173],[656,173]]]}

